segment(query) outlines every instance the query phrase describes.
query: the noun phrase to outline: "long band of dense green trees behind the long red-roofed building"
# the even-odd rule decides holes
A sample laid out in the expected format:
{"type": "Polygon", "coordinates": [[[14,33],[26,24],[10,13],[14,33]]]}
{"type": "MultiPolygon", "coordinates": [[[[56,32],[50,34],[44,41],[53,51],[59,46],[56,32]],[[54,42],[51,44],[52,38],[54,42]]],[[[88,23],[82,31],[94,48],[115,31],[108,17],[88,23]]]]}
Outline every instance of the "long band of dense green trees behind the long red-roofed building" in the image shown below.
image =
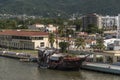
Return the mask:
{"type": "MultiPolygon", "coordinates": [[[[27,29],[29,25],[33,24],[53,24],[54,26],[59,26],[59,36],[65,36],[65,25],[64,22],[68,22],[67,27],[69,28],[69,25],[79,25],[81,23],[78,23],[80,20],[75,20],[74,22],[71,22],[70,20],[64,19],[64,18],[36,18],[36,19],[0,19],[0,29],[27,29]]],[[[79,25],[78,28],[81,26],[79,25]]],[[[79,29],[77,29],[79,30],[79,29]]],[[[72,30],[68,29],[67,31],[71,35],[74,33],[72,30]]]]}

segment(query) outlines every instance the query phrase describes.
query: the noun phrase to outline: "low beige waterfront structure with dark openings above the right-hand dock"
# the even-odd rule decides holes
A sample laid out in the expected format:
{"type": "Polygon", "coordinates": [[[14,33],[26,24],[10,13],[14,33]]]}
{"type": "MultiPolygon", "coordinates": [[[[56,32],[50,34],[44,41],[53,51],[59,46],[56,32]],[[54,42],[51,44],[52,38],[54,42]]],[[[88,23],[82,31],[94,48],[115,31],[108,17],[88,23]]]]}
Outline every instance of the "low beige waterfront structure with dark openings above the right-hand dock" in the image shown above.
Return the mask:
{"type": "Polygon", "coordinates": [[[116,63],[120,61],[120,51],[103,51],[93,54],[93,62],[116,63]]]}

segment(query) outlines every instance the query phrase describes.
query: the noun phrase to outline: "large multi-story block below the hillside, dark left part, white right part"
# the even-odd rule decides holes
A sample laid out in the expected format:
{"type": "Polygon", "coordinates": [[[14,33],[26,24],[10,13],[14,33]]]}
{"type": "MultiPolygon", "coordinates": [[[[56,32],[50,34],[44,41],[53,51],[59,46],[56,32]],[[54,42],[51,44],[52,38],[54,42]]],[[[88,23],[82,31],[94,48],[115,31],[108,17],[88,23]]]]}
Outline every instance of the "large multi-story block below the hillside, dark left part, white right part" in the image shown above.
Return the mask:
{"type": "Polygon", "coordinates": [[[97,26],[99,29],[116,30],[120,24],[120,15],[118,16],[102,16],[96,13],[88,14],[82,18],[83,30],[85,30],[89,24],[97,26]]]}

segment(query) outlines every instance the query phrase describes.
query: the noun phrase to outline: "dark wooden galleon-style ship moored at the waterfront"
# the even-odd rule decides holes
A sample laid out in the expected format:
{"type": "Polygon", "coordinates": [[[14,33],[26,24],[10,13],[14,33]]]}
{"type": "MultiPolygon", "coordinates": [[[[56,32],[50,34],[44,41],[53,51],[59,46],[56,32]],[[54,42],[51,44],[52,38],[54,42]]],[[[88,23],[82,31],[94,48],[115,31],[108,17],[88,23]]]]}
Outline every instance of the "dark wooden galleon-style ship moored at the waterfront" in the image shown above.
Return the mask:
{"type": "Polygon", "coordinates": [[[58,53],[53,49],[39,49],[38,65],[48,69],[79,70],[87,57],[72,57],[68,54],[58,53]]]}

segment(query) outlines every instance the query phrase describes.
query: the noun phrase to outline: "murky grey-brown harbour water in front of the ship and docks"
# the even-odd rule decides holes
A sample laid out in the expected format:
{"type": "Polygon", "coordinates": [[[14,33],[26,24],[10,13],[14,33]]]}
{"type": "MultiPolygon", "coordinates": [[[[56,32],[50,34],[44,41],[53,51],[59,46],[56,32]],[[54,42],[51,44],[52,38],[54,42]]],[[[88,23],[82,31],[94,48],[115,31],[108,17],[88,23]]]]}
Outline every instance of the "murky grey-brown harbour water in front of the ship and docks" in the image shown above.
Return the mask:
{"type": "Polygon", "coordinates": [[[0,80],[120,80],[120,76],[93,71],[39,69],[36,63],[0,57],[0,80]]]}

